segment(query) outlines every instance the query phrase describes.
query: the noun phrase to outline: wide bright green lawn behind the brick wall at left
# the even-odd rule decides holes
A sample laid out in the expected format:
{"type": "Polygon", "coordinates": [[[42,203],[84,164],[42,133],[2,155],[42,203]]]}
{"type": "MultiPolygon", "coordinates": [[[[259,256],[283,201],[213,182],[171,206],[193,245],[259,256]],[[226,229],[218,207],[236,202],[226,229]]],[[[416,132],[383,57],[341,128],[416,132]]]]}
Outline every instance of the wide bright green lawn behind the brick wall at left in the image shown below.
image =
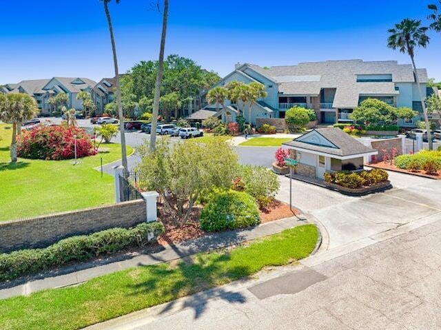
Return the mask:
{"type": "MultiPolygon", "coordinates": [[[[121,158],[120,145],[101,145],[96,156],[69,161],[19,158],[10,165],[12,130],[0,124],[0,221],[53,212],[99,206],[114,202],[113,177],[93,169],[121,158]]],[[[132,148],[127,147],[127,153],[132,148]]]]}

